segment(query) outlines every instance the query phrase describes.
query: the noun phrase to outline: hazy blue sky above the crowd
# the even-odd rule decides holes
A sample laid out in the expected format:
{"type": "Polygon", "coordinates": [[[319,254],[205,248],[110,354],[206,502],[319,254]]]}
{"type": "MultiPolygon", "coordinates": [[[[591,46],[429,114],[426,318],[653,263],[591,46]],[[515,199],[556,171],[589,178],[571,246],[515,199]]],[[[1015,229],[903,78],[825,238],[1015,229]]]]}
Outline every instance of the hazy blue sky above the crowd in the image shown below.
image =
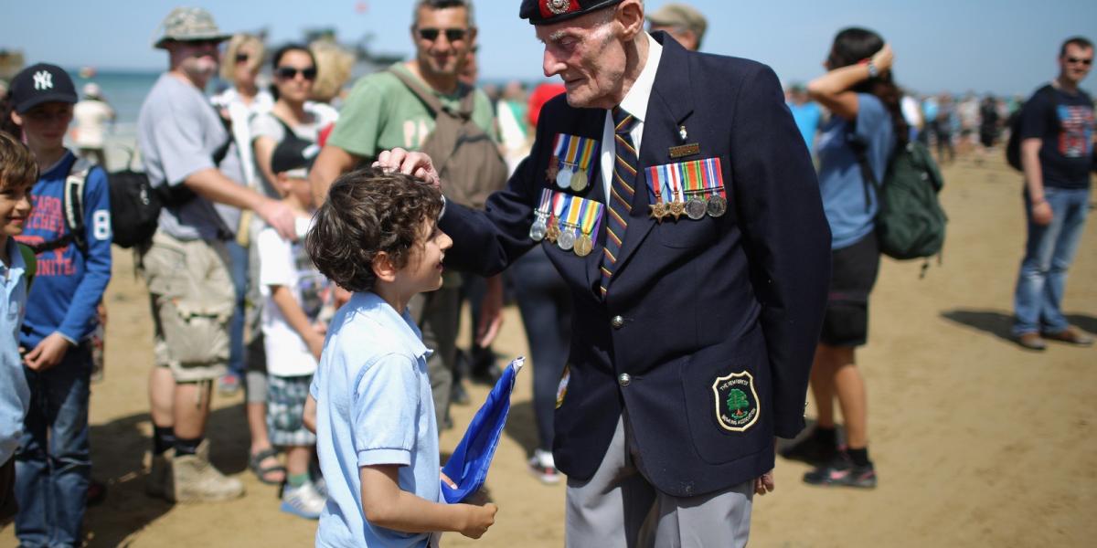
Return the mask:
{"type": "MultiPolygon", "coordinates": [[[[20,48],[27,64],[159,69],[157,25],[180,0],[5,1],[0,48],[20,48]]],[[[477,0],[482,76],[535,80],[541,47],[518,19],[519,0],[477,0]]],[[[648,0],[648,11],[666,3],[648,0]]],[[[767,62],[785,81],[821,71],[834,34],[849,25],[881,33],[895,50],[900,83],[921,92],[1027,93],[1056,72],[1059,44],[1097,39],[1095,0],[695,0],[709,18],[703,49],[767,62]]],[[[227,32],[269,30],[274,44],[304,28],[333,27],[339,38],[373,35],[376,52],[410,55],[412,0],[234,0],[193,2],[227,32]]],[[[1084,87],[1097,89],[1097,76],[1084,87]]]]}

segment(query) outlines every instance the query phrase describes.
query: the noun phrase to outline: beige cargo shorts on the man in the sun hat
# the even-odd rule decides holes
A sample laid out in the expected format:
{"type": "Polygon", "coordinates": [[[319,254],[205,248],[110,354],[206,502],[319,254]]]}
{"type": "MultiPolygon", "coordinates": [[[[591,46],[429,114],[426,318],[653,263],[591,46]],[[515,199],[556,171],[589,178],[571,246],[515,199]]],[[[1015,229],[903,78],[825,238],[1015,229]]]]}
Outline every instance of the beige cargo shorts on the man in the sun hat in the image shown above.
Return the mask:
{"type": "Polygon", "coordinates": [[[224,375],[236,300],[225,246],[157,230],[140,256],[139,272],[152,304],[156,366],[170,368],[177,383],[224,375]]]}

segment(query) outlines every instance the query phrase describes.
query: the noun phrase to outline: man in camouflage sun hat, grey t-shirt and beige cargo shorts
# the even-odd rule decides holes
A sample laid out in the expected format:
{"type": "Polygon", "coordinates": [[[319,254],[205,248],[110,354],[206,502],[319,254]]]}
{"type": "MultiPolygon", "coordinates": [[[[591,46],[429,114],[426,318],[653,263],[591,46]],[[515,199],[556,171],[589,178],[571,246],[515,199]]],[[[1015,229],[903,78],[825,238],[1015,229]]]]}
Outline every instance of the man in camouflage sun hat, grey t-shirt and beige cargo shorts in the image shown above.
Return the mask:
{"type": "Polygon", "coordinates": [[[204,439],[213,380],[228,362],[234,289],[225,242],[240,209],[255,210],[284,238],[294,236],[295,219],[285,204],[241,184],[239,153],[203,93],[228,36],[199,8],[176,8],[162,30],[155,46],[168,52],[169,69],[137,119],[145,171],[165,203],[138,263],[155,329],[147,491],[174,502],[226,500],[244,494],[244,486],[210,465],[204,439]]]}

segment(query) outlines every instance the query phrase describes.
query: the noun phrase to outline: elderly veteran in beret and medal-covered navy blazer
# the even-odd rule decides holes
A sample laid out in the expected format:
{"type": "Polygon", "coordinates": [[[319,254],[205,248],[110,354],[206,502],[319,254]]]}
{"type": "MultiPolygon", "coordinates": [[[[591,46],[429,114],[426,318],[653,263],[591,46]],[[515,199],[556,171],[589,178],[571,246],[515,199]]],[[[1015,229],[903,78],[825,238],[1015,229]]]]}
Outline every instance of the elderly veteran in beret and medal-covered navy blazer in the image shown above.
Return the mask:
{"type": "MultiPolygon", "coordinates": [[[[520,13],[566,98],[485,212],[449,204],[446,264],[490,274],[540,243],[572,289],[568,546],[743,546],[774,435],[804,426],[826,301],[807,149],[769,67],[645,33],[641,0],[520,13]]],[[[438,181],[420,152],[377,163],[438,181]]]]}

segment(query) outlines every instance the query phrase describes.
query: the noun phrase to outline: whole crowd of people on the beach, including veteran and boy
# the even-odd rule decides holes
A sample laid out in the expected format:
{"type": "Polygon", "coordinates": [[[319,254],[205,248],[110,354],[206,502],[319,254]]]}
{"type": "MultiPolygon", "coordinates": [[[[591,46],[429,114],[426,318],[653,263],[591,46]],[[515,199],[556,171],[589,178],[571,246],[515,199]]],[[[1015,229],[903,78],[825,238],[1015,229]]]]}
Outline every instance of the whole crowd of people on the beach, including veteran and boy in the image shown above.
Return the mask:
{"type": "MultiPolygon", "coordinates": [[[[1014,334],[1093,343],[1061,312],[1097,164],[1086,38],[1028,101],[957,100],[904,93],[886,39],[844,28],[825,72],[780,101],[769,67],[693,53],[708,24],[686,4],[523,0],[520,15],[562,84],[477,88],[470,0],[415,2],[415,58],[343,93],[338,47],[268,52],[203,9],[168,14],[168,70],[138,118],[162,204],[135,255],[155,332],[150,496],[244,495],[206,439],[215,387],[242,389],[249,468],[319,521],[317,546],[478,538],[497,509],[438,502],[457,479],[439,475],[438,433],[463,383],[498,378],[508,295],[533,364],[528,465],[567,477],[568,546],[745,545],[808,389],[816,424],[781,455],[815,465],[806,483],[873,488],[857,349],[875,182],[914,142],[943,163],[1013,129],[1028,219],[1014,334]]],[[[82,94],[27,67],[0,132],[0,520],[26,547],[80,546],[95,499],[91,339],[117,212],[114,113],[97,85],[82,94]]]]}

